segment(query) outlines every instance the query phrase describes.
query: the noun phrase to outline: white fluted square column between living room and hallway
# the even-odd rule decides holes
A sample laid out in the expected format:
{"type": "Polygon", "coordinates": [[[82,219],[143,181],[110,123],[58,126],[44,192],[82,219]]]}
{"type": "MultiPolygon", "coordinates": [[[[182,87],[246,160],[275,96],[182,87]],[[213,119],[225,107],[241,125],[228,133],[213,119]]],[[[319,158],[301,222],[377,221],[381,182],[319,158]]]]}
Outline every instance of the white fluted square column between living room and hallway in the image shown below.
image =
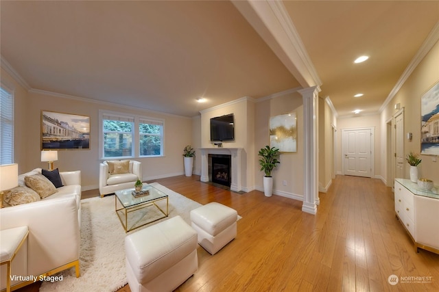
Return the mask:
{"type": "Polygon", "coordinates": [[[303,98],[303,124],[304,124],[304,185],[302,211],[316,214],[318,198],[318,92],[317,86],[298,90],[303,98]]]}

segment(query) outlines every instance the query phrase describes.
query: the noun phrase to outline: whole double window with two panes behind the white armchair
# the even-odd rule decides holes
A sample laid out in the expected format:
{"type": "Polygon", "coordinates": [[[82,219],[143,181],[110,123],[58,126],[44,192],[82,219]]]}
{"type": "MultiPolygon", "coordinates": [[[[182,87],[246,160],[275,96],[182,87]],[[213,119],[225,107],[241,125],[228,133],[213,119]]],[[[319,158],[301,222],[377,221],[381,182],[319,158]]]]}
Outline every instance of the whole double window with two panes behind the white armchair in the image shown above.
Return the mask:
{"type": "Polygon", "coordinates": [[[102,158],[163,156],[163,120],[99,111],[102,158]]]}

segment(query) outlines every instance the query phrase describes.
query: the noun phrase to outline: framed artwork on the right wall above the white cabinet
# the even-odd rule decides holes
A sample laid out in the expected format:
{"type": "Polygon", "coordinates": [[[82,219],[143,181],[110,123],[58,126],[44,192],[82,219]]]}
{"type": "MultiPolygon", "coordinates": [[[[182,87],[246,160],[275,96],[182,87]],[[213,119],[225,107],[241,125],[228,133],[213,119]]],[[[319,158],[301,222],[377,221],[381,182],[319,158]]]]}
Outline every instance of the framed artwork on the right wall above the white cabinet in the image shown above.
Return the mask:
{"type": "Polygon", "coordinates": [[[439,155],[439,82],[420,98],[420,154],[439,155]]]}

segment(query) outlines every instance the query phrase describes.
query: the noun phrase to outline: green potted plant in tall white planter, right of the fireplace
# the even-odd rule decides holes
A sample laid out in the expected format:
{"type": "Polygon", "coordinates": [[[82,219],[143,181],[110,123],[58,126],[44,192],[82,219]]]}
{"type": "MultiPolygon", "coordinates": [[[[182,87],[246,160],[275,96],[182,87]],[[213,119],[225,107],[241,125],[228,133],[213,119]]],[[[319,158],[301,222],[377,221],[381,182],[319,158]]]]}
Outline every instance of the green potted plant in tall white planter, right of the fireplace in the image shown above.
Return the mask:
{"type": "Polygon", "coordinates": [[[268,145],[265,148],[261,148],[258,153],[261,171],[265,173],[263,176],[263,193],[268,197],[272,196],[273,191],[272,171],[278,163],[281,163],[281,161],[278,161],[279,154],[278,148],[270,148],[268,145]]]}

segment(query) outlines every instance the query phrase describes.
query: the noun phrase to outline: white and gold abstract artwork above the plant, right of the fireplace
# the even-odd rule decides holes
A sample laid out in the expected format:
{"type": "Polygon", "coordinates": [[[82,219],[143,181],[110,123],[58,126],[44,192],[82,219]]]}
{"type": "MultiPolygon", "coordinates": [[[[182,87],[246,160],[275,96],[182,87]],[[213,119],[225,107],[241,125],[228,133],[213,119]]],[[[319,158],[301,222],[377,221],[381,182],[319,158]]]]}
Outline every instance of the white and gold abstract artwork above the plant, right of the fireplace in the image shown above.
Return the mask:
{"type": "Polygon", "coordinates": [[[296,113],[270,118],[270,147],[280,152],[297,152],[296,113]]]}

